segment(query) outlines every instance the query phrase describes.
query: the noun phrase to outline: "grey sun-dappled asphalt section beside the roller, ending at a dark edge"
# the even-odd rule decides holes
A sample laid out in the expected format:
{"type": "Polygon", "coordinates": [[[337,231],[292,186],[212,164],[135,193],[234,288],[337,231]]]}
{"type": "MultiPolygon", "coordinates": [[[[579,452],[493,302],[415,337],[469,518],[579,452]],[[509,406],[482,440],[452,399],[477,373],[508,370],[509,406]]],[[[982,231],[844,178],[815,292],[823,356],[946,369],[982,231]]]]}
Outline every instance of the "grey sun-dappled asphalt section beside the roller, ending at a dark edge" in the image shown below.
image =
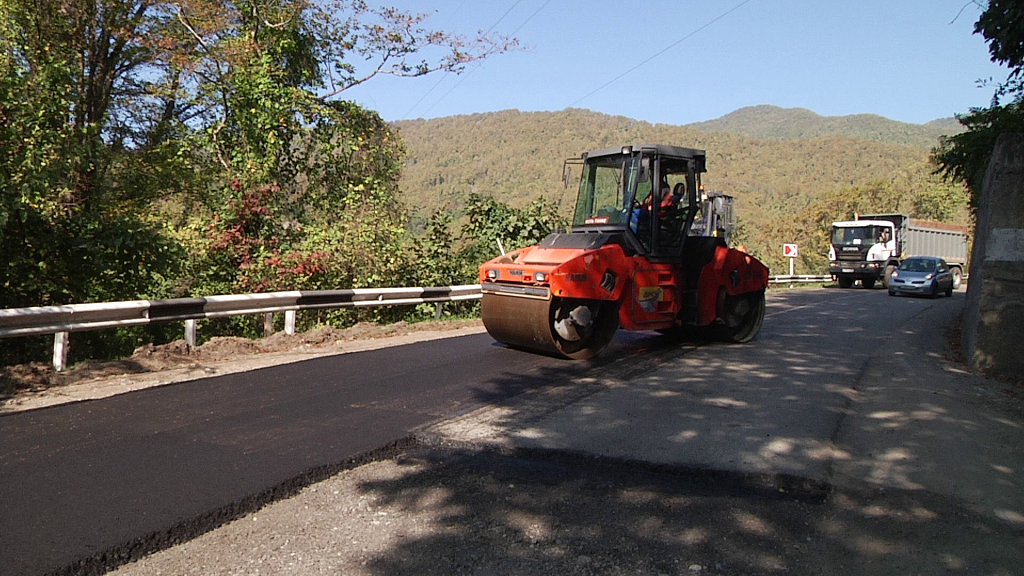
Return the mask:
{"type": "MultiPolygon", "coordinates": [[[[477,390],[481,403],[500,407],[486,416],[489,434],[524,448],[827,482],[835,458],[845,457],[833,437],[888,333],[858,328],[869,299],[808,311],[829,295],[799,296],[773,297],[750,344],[621,332],[587,363],[496,374],[477,390]]],[[[886,322],[894,328],[907,314],[886,322]]]]}

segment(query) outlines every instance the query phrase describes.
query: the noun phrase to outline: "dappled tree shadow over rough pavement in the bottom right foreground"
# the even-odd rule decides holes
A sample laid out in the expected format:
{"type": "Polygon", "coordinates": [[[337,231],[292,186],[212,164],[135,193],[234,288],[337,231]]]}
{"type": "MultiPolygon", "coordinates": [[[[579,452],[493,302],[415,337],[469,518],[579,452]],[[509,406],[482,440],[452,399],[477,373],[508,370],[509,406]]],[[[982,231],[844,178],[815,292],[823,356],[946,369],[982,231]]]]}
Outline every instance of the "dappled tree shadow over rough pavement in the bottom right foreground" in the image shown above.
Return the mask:
{"type": "MultiPolygon", "coordinates": [[[[1016,574],[1020,531],[924,492],[826,500],[580,455],[426,450],[358,490],[371,574],[1016,574]]],[[[331,519],[322,519],[330,523],[331,519]]]]}

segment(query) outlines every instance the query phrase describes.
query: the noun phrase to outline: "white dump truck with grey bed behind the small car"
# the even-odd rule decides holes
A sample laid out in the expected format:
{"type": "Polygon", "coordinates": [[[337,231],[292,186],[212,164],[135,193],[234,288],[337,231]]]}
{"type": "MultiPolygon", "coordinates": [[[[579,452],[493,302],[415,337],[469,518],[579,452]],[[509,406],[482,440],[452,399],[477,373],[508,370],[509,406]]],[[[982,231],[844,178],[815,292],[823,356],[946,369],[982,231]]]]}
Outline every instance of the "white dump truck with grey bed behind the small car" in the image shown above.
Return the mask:
{"type": "Polygon", "coordinates": [[[861,214],[833,222],[828,274],[841,288],[857,280],[864,288],[879,280],[888,288],[893,271],[910,256],[943,258],[953,274],[953,288],[959,288],[967,269],[967,228],[906,214],[861,214]]]}

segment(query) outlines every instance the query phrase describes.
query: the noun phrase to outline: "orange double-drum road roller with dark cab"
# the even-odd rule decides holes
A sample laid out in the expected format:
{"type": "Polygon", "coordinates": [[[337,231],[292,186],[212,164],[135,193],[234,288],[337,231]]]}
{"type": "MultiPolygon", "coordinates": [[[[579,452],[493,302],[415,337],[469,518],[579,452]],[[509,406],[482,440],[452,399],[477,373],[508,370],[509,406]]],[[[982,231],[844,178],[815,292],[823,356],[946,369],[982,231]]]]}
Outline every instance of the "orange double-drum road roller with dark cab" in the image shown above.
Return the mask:
{"type": "Polygon", "coordinates": [[[593,357],[620,328],[754,338],[768,269],[729,248],[731,198],[702,192],[706,159],[665,145],[584,154],[570,231],[480,266],[492,337],[571,359],[593,357]]]}

